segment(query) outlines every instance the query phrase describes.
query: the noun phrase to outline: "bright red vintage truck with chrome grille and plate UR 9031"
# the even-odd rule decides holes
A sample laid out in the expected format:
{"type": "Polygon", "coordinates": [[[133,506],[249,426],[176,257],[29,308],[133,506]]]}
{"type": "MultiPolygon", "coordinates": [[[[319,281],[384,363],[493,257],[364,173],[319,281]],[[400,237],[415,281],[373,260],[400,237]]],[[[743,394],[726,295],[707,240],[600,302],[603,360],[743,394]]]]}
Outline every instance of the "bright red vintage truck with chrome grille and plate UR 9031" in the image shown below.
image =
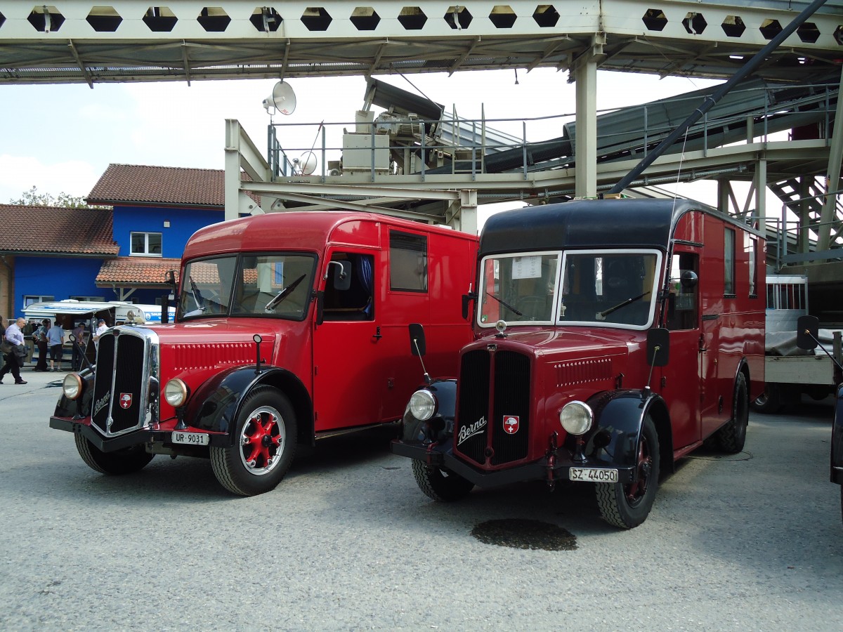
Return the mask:
{"type": "Polygon", "coordinates": [[[474,236],[370,213],[202,228],[175,323],[108,329],[50,426],[105,474],[194,456],[235,494],[272,490],[298,446],[400,420],[418,376],[407,323],[431,332],[432,370],[456,375],[476,254],[474,236]]]}

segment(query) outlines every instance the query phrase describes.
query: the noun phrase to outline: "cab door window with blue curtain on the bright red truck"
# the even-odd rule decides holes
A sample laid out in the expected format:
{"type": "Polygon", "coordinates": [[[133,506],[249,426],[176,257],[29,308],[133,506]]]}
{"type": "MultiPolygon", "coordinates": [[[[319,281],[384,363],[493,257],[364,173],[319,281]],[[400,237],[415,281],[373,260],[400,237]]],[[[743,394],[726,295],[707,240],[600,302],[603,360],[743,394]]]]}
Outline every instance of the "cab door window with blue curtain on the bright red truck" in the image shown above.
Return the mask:
{"type": "Polygon", "coordinates": [[[325,320],[374,319],[374,258],[371,254],[334,253],[325,282],[325,320]],[[347,270],[341,272],[341,270],[347,270]],[[340,279],[338,275],[345,274],[340,279]]]}

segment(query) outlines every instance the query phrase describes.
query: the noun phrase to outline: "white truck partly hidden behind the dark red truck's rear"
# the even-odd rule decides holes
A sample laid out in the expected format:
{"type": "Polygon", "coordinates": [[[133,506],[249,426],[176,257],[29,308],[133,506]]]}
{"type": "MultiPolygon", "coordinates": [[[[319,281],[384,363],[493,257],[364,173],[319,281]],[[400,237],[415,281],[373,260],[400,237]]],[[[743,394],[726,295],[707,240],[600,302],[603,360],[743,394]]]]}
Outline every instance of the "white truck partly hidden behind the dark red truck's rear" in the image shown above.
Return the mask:
{"type": "MultiPolygon", "coordinates": [[[[766,292],[765,391],[753,409],[776,413],[785,404],[798,404],[803,394],[825,399],[834,393],[834,362],[796,344],[797,319],[808,314],[808,277],[768,274],[766,292]]],[[[838,361],[843,358],[840,330],[819,329],[818,337],[838,361]]]]}

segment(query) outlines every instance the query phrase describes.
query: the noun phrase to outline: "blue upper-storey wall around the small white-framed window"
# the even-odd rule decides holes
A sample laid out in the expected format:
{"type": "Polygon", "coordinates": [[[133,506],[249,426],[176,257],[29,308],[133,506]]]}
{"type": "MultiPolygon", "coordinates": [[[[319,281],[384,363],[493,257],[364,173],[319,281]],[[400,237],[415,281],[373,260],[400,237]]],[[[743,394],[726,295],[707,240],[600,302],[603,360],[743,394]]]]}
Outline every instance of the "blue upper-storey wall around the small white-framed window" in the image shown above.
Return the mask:
{"type": "Polygon", "coordinates": [[[186,209],[177,207],[115,206],[114,240],[120,244],[120,256],[130,254],[132,233],[161,233],[161,255],[181,259],[187,239],[197,230],[222,222],[222,209],[186,209]],[[169,228],[164,228],[169,222],[169,228]]]}

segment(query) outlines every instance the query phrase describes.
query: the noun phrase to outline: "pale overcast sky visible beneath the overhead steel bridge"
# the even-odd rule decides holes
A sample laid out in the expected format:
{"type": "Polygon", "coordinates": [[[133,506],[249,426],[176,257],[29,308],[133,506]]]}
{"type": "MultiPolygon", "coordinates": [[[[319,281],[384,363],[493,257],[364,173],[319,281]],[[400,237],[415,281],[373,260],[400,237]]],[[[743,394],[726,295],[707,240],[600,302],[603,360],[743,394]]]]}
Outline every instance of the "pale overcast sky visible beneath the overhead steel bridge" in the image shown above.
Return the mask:
{"type": "MultiPolygon", "coordinates": [[[[421,90],[464,118],[522,119],[570,114],[575,88],[567,72],[536,69],[378,77],[410,91],[421,90]]],[[[109,163],[223,169],[224,121],[238,119],[261,153],[266,152],[269,115],[261,102],[270,79],[185,83],[0,85],[0,203],[36,186],[42,193],[88,195],[109,163]]],[[[351,126],[362,107],[366,81],[353,78],[292,78],[298,104],[276,122],[325,121],[351,126]]],[[[701,79],[599,72],[598,108],[640,104],[704,88],[701,79]]],[[[531,142],[561,135],[561,120],[528,125],[531,142]]],[[[518,136],[521,123],[491,123],[518,136]]],[[[340,143],[341,126],[335,126],[340,143]]],[[[285,147],[309,147],[316,126],[284,132],[285,147]]],[[[319,146],[319,143],[317,143],[319,146]]],[[[293,152],[295,153],[295,152],[293,152]]]]}

